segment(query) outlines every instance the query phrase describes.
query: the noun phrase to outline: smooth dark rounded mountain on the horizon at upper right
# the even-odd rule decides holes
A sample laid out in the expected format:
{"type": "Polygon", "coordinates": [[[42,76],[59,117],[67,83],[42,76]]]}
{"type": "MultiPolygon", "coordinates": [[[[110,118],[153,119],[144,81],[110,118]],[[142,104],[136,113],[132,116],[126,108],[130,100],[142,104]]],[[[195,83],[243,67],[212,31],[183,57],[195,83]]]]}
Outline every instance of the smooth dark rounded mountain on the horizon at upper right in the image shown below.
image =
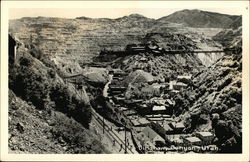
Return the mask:
{"type": "Polygon", "coordinates": [[[182,10],[162,17],[158,21],[178,23],[196,28],[230,28],[230,25],[238,17],[202,10],[182,10]]]}

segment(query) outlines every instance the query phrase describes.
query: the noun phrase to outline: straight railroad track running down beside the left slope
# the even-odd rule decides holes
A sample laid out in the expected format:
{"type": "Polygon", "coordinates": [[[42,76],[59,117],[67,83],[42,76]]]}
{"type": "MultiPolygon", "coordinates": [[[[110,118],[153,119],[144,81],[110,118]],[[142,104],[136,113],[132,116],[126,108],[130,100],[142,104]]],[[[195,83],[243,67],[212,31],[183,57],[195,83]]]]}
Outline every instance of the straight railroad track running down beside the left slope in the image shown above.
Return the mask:
{"type": "MultiPolygon", "coordinates": [[[[103,127],[102,119],[94,111],[92,111],[91,113],[94,119],[100,125],[100,127],[103,127]]],[[[109,127],[105,123],[104,123],[104,126],[105,126],[104,129],[106,130],[108,135],[112,137],[119,145],[122,144],[122,149],[125,150],[125,142],[113,130],[110,130],[109,127]]],[[[134,152],[129,147],[127,147],[127,153],[134,154],[134,152]]]]}

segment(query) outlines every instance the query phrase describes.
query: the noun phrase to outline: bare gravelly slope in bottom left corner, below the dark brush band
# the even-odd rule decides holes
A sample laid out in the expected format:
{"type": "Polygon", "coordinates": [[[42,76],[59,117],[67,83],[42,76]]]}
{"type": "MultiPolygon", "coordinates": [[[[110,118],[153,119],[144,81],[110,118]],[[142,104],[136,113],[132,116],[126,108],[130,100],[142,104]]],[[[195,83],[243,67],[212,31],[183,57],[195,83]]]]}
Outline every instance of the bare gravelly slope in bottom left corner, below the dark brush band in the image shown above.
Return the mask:
{"type": "Polygon", "coordinates": [[[9,153],[108,153],[99,137],[58,111],[38,110],[9,91],[9,153]]]}

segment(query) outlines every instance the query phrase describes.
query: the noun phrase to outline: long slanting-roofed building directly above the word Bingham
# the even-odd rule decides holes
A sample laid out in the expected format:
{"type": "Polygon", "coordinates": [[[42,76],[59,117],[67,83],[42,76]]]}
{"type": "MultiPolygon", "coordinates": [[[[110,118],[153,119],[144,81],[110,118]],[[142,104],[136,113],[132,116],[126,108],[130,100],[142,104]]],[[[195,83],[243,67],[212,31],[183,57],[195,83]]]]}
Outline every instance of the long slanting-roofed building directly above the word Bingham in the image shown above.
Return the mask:
{"type": "Polygon", "coordinates": [[[165,140],[148,126],[142,130],[142,133],[144,133],[146,137],[150,140],[150,142],[153,143],[155,146],[165,144],[165,140]]]}

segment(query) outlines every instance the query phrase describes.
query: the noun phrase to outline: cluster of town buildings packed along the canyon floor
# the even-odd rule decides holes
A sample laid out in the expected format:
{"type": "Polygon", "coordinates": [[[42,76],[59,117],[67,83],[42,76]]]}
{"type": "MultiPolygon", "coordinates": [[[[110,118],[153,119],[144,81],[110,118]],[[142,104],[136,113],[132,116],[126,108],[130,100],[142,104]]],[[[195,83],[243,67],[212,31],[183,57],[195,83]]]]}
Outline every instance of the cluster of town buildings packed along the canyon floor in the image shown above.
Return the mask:
{"type": "MultiPolygon", "coordinates": [[[[181,120],[172,116],[175,102],[172,99],[153,97],[148,101],[142,99],[125,99],[127,87],[119,84],[126,73],[119,69],[109,71],[113,80],[109,84],[108,98],[126,118],[127,126],[131,128],[133,140],[139,151],[144,153],[152,151],[153,148],[178,145],[209,145],[214,139],[211,132],[197,132],[195,135],[185,133],[186,126],[181,120]],[[150,106],[149,106],[150,105],[150,106]],[[143,109],[143,111],[142,111],[143,109]],[[145,111],[149,110],[149,111],[145,111]],[[141,112],[147,112],[141,113],[141,112]],[[152,124],[157,124],[163,130],[160,133],[152,124]],[[151,149],[149,149],[151,148],[151,149]]],[[[181,91],[192,81],[191,76],[178,76],[175,81],[170,81],[170,91],[181,91]]]]}

